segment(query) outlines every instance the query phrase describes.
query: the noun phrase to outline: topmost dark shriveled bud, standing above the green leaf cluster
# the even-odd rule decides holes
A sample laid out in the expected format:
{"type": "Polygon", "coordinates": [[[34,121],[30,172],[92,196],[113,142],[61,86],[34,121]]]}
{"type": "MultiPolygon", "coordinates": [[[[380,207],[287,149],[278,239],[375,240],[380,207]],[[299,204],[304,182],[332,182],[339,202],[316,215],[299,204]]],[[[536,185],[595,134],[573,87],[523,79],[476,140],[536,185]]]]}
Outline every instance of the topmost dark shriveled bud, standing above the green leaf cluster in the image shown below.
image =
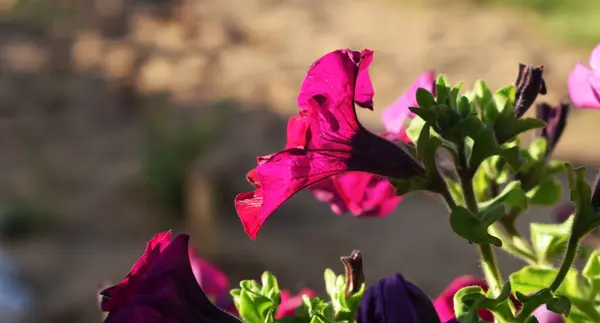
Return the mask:
{"type": "Polygon", "coordinates": [[[533,65],[519,64],[519,76],[515,85],[517,91],[515,94],[515,113],[520,118],[529,110],[538,94],[546,94],[546,83],[542,74],[544,66],[534,67],[533,65]]]}

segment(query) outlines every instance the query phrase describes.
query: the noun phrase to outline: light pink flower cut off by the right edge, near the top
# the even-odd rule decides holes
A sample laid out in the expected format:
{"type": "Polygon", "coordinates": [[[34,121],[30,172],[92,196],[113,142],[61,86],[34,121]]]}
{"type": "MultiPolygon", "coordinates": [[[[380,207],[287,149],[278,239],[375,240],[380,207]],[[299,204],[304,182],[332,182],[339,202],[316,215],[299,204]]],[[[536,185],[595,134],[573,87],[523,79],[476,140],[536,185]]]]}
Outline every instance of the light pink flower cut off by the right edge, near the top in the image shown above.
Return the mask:
{"type": "Polygon", "coordinates": [[[577,63],[569,75],[569,96],[580,108],[600,109],[600,44],[590,55],[590,67],[577,63]]]}

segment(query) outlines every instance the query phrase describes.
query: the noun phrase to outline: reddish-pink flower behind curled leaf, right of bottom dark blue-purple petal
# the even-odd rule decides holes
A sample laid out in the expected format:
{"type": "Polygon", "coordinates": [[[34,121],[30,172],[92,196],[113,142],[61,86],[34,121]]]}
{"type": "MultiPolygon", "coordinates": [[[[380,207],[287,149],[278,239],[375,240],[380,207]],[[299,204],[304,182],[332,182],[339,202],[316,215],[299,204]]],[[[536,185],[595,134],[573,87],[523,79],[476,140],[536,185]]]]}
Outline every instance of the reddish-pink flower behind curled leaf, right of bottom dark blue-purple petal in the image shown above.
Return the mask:
{"type": "MultiPolygon", "coordinates": [[[[442,322],[448,321],[455,317],[454,314],[454,294],[461,288],[467,286],[479,286],[487,290],[485,280],[474,276],[461,276],[454,279],[444,291],[433,301],[433,306],[437,311],[442,322]]],[[[493,322],[494,316],[488,310],[479,310],[479,317],[487,322],[493,322]]]]}

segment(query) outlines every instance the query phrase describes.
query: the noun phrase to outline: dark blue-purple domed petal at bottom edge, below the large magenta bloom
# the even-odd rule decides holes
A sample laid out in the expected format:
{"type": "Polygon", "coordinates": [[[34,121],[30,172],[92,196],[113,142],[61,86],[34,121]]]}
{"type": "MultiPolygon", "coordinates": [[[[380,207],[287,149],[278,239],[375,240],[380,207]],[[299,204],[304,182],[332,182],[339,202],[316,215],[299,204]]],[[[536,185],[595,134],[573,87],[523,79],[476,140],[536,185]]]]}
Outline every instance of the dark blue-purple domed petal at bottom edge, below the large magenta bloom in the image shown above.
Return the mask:
{"type": "Polygon", "coordinates": [[[400,274],[369,287],[356,313],[357,323],[439,323],[433,304],[400,274]]]}

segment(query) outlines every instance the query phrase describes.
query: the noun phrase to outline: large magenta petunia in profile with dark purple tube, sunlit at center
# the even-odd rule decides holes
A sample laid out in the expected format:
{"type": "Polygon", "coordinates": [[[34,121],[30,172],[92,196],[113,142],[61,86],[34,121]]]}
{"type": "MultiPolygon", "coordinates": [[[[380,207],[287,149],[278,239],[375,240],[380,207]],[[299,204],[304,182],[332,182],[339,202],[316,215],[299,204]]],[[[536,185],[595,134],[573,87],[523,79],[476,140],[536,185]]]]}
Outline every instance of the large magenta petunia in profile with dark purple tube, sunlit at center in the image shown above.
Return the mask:
{"type": "MultiPolygon", "coordinates": [[[[407,178],[424,172],[406,151],[358,122],[354,103],[373,108],[368,74],[372,55],[370,50],[337,50],[309,69],[298,97],[299,114],[288,123],[286,149],[259,157],[258,166],[247,175],[256,190],[235,198],[244,230],[252,239],[286,200],[333,176],[364,172],[407,178]]],[[[388,194],[378,187],[369,191],[388,194]]],[[[370,211],[369,203],[362,203],[361,207],[370,211]]],[[[352,208],[359,210],[354,205],[352,208]]]]}

